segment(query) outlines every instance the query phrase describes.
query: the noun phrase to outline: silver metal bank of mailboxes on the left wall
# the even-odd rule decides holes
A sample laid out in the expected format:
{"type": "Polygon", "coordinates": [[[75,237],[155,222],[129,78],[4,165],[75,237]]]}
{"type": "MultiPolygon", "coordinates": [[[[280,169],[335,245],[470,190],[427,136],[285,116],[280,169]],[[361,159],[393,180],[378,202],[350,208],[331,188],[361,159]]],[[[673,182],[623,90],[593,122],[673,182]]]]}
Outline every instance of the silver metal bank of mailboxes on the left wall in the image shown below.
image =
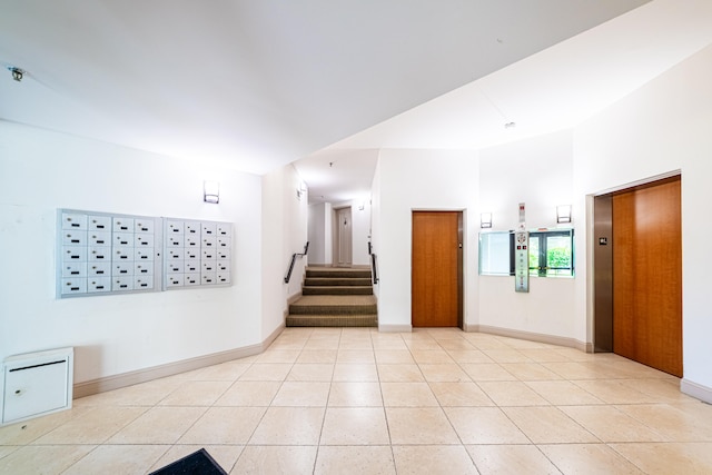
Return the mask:
{"type": "Polygon", "coordinates": [[[72,209],[57,216],[57,298],[231,285],[231,222],[72,209]]]}

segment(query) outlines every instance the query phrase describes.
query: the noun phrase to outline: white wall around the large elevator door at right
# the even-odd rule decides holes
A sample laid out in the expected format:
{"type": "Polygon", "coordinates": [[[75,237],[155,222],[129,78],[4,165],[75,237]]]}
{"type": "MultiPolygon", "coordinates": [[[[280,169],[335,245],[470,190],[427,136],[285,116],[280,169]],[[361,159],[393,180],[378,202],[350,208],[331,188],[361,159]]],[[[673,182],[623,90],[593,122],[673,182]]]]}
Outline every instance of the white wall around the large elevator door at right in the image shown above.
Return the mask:
{"type": "MultiPolygon", "coordinates": [[[[574,194],[580,209],[586,195],[682,170],[684,379],[706,388],[710,399],[712,307],[706,235],[712,227],[711,83],[712,47],[708,47],[574,132],[574,194]]],[[[584,232],[577,236],[580,248],[591,246],[584,232]]],[[[580,271],[585,270],[581,267],[580,271]]],[[[590,287],[578,281],[576,290],[575,316],[583,323],[578,331],[590,333],[590,287]]]]}

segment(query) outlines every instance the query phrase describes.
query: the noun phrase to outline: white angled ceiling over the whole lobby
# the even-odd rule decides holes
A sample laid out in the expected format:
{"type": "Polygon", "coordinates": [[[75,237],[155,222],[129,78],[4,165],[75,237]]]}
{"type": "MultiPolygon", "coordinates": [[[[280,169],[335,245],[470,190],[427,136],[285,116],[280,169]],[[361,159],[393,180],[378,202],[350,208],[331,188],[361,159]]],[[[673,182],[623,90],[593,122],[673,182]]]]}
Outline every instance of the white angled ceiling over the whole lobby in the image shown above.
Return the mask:
{"type": "Polygon", "coordinates": [[[479,148],[580,120],[706,46],[711,10],[0,0],[0,63],[27,71],[0,76],[0,119],[254,174],[299,160],[310,195],[344,200],[378,148],[479,148]]]}

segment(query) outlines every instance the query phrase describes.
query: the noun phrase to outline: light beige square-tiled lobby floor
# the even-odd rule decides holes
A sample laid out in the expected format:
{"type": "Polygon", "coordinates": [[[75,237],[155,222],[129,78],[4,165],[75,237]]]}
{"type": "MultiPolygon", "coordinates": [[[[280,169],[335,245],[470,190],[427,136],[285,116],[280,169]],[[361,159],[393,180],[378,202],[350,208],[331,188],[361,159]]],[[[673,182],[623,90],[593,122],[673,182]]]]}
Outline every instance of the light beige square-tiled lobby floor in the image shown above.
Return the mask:
{"type": "Polygon", "coordinates": [[[288,328],[261,355],[0,428],[0,474],[145,474],[205,447],[233,474],[712,473],[680,380],[457,329],[288,328]]]}

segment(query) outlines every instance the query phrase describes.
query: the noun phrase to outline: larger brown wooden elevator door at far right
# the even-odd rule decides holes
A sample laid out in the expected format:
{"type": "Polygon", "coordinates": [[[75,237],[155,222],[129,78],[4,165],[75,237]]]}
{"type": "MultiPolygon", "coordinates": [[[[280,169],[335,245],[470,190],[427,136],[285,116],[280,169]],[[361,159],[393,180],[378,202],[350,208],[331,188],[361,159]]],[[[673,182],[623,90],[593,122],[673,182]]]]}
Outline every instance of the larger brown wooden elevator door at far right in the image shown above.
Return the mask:
{"type": "Polygon", "coordinates": [[[613,352],[682,377],[680,177],[613,196],[613,352]]]}

